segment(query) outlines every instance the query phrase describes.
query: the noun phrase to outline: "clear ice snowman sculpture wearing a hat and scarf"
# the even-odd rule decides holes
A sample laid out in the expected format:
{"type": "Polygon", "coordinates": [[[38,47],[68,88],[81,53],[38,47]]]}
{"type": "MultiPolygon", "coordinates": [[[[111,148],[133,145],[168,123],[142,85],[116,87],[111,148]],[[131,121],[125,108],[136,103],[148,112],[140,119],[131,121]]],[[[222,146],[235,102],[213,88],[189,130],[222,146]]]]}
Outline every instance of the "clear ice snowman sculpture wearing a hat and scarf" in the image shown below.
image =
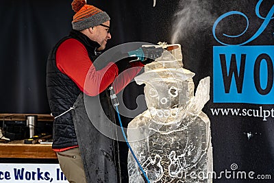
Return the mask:
{"type": "MultiPolygon", "coordinates": [[[[162,47],[171,45],[161,45],[162,47]]],[[[212,182],[210,120],[201,110],[210,98],[210,77],[199,82],[183,68],[180,45],[135,77],[145,84],[147,110],[128,125],[129,144],[150,182],[212,182]]],[[[129,152],[129,182],[145,182],[129,152]]]]}

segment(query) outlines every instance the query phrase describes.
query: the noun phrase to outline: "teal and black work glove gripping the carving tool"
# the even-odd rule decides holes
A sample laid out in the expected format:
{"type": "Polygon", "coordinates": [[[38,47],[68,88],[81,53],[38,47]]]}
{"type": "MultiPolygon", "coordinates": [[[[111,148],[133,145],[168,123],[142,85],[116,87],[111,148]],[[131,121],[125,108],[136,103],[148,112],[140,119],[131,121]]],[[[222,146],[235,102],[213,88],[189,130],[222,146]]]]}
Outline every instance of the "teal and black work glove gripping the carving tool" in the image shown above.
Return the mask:
{"type": "Polygon", "coordinates": [[[127,54],[129,57],[136,57],[137,60],[142,61],[143,64],[149,64],[153,62],[156,58],[162,56],[164,49],[162,47],[140,47],[134,51],[129,51],[127,54]]]}

